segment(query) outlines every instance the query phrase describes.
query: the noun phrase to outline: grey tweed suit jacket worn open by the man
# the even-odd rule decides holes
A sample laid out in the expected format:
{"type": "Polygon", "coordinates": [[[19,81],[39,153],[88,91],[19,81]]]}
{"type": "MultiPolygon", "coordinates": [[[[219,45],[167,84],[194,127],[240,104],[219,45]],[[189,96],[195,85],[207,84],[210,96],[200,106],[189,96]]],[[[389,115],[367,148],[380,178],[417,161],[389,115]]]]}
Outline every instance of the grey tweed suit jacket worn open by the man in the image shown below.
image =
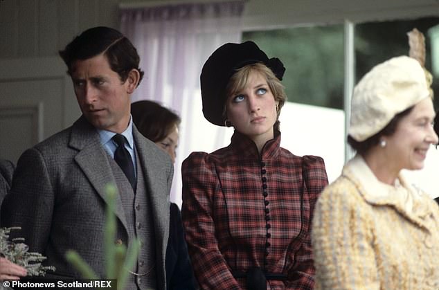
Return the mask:
{"type": "MultiPolygon", "coordinates": [[[[143,168],[154,219],[156,282],[165,289],[173,166],[168,154],[144,138],[134,125],[133,136],[140,160],[137,166],[143,168]]],[[[21,155],[10,194],[1,208],[2,226],[21,226],[17,235],[26,239],[30,251],[42,253],[47,257],[45,264],[56,267],[49,277],[80,278],[64,260],[68,249],[78,251],[100,277],[105,277],[103,233],[108,183],[115,184],[108,154],[96,129],[82,116],[73,126],[21,155]]],[[[116,240],[128,244],[119,196],[115,214],[116,240]]]]}

